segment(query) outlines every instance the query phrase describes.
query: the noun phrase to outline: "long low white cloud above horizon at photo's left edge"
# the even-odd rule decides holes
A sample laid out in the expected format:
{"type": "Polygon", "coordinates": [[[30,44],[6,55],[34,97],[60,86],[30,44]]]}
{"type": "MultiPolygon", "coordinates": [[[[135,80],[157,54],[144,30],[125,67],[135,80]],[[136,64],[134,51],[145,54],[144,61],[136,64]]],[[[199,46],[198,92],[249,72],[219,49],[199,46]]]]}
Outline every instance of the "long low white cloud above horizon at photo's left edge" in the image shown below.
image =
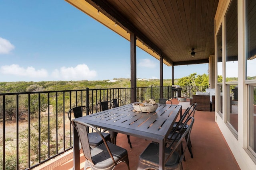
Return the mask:
{"type": "Polygon", "coordinates": [[[36,70],[32,66],[23,68],[18,64],[1,66],[0,73],[6,74],[6,75],[24,76],[24,77],[30,77],[30,78],[44,78],[48,76],[48,73],[45,69],[36,70]]]}

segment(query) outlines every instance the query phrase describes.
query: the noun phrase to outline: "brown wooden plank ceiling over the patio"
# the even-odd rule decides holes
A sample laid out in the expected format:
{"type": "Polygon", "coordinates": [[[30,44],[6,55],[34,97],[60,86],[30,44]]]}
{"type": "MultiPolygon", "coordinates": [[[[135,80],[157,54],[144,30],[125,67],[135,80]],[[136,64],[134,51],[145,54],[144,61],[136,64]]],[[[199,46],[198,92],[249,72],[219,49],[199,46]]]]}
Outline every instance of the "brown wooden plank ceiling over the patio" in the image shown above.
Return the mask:
{"type": "Polygon", "coordinates": [[[218,0],[85,1],[135,33],[139,41],[171,65],[208,63],[210,55],[214,55],[218,0]]]}

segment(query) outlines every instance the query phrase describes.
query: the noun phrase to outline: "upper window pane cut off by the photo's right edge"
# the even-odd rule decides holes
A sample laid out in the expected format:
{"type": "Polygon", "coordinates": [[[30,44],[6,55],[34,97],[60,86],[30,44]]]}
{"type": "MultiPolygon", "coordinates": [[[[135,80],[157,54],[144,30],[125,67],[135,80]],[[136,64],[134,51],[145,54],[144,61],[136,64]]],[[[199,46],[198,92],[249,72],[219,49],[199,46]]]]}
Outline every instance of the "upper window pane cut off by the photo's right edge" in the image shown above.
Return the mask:
{"type": "Polygon", "coordinates": [[[256,1],[246,0],[246,79],[256,79],[256,1]]]}

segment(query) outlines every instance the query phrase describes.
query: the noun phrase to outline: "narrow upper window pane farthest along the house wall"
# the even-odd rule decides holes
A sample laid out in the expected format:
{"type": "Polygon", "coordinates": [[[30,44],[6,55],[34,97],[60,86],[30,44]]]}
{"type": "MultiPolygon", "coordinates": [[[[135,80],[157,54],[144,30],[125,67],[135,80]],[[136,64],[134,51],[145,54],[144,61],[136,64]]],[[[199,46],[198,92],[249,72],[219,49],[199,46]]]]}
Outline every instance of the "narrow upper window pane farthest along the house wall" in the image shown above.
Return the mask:
{"type": "Polygon", "coordinates": [[[218,83],[222,82],[222,25],[217,34],[217,75],[218,83]]]}

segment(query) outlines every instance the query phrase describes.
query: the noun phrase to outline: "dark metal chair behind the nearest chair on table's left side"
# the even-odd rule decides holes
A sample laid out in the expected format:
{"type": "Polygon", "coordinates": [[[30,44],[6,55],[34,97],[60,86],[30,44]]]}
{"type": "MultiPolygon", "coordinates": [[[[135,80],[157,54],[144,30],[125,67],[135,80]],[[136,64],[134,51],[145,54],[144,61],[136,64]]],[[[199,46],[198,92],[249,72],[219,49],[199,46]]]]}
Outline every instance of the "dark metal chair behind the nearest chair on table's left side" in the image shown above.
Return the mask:
{"type": "MultiPolygon", "coordinates": [[[[72,117],[78,118],[78,117],[82,117],[83,115],[85,116],[87,111],[89,112],[89,114],[92,114],[90,109],[86,106],[77,106],[68,111],[68,119],[70,123],[74,126],[74,128],[76,128],[76,126],[72,122],[72,117]]],[[[111,137],[109,133],[102,132],[102,135],[104,136],[106,141],[111,141],[111,137]]],[[[98,145],[103,143],[103,140],[101,139],[100,135],[98,135],[98,133],[96,132],[88,133],[88,139],[89,139],[91,148],[95,148],[98,145]]]]}

